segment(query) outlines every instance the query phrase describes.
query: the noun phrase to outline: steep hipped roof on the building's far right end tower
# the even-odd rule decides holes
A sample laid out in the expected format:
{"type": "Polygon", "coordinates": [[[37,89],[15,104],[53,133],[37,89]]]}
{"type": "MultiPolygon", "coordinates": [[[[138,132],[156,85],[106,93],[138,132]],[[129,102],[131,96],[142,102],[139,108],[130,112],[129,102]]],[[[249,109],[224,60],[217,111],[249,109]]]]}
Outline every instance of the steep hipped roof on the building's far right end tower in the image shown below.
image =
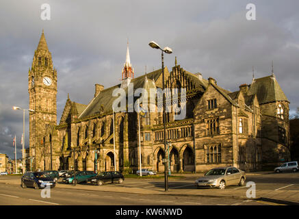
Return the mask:
{"type": "Polygon", "coordinates": [[[248,95],[252,94],[257,94],[257,99],[260,104],[275,101],[289,102],[274,75],[261,77],[252,81],[248,89],[248,95]]]}

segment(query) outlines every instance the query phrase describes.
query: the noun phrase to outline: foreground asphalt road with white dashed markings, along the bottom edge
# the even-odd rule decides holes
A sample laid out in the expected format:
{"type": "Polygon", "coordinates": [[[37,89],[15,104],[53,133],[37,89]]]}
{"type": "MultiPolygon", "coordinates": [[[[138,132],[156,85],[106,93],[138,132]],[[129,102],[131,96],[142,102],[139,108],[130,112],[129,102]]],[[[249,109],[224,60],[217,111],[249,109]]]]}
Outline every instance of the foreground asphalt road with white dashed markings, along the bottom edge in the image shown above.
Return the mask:
{"type": "MultiPolygon", "coordinates": [[[[71,185],[70,185],[71,186],[71,185]]],[[[88,186],[88,185],[86,185],[88,186]]],[[[112,185],[113,186],[113,185],[112,185]]],[[[144,195],[119,192],[99,192],[51,189],[50,198],[42,198],[42,189],[21,188],[0,183],[0,205],[268,205],[259,201],[233,198],[144,195]]]]}

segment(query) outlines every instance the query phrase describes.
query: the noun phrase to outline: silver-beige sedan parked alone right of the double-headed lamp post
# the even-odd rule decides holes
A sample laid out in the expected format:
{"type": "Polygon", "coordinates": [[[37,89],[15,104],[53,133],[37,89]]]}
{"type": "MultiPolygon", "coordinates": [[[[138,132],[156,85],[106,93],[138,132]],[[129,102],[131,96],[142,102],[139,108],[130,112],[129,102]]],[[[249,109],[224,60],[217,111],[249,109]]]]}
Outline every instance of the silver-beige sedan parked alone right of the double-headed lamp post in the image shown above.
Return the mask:
{"type": "Polygon", "coordinates": [[[200,187],[216,187],[224,190],[227,185],[243,186],[246,175],[243,170],[229,166],[221,168],[213,168],[205,173],[204,177],[196,179],[195,184],[200,187]]]}

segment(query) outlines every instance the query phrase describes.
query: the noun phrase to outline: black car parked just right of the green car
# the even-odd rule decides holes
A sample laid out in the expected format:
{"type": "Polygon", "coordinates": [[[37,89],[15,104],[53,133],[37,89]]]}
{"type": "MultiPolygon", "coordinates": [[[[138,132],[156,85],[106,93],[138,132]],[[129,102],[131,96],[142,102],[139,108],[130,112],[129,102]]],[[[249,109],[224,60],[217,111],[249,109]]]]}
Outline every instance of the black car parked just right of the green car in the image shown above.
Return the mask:
{"type": "Polygon", "coordinates": [[[118,171],[99,172],[95,177],[88,179],[88,183],[103,185],[103,183],[122,183],[125,177],[118,171]]]}

